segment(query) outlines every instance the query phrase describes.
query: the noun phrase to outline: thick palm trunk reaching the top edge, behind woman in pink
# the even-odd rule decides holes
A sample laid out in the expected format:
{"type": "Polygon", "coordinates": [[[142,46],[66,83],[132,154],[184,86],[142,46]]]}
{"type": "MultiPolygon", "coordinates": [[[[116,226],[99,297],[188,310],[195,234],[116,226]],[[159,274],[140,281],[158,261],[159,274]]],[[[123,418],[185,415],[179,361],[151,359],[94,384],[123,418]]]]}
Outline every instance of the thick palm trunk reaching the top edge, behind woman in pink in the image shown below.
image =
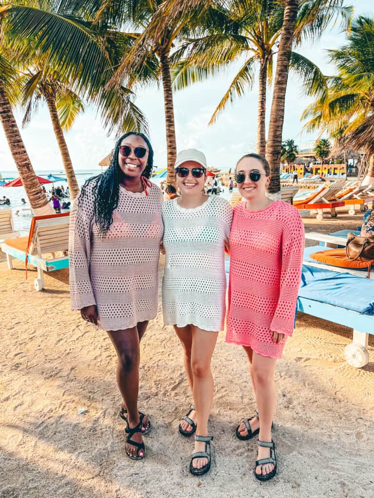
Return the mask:
{"type": "Polygon", "coordinates": [[[286,0],[283,26],[279,43],[277,69],[275,73],[273,102],[271,104],[269,137],[266,144],[266,157],[270,164],[271,180],[269,194],[280,198],[280,154],[284,121],[288,70],[299,0],[286,0]]]}

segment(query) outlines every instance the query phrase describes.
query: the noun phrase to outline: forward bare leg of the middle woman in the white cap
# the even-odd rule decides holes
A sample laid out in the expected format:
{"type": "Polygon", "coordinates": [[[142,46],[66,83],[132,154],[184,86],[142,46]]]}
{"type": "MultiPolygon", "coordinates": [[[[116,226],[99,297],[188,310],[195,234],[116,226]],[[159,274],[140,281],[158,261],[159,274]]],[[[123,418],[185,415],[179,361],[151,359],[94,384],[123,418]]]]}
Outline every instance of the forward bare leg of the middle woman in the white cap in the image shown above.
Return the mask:
{"type": "MultiPolygon", "coordinates": [[[[213,399],[214,381],[210,361],[217,342],[218,332],[192,327],[191,368],[193,375],[193,400],[196,408],[196,434],[208,436],[208,418],[213,399]]],[[[195,452],[205,451],[205,443],[195,441],[195,452]]],[[[192,465],[200,469],[207,464],[206,458],[195,458],[192,465]]]]}

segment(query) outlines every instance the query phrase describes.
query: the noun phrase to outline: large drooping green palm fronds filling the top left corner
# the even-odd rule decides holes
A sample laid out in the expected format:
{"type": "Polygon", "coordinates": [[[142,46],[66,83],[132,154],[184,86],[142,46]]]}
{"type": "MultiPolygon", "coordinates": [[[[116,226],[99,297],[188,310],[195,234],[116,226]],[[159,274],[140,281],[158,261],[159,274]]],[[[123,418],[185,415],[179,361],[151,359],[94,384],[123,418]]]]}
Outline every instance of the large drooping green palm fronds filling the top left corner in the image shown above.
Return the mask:
{"type": "MultiPolygon", "coordinates": [[[[97,2],[93,3],[98,10],[97,2]]],[[[122,82],[116,88],[107,87],[113,68],[134,38],[109,24],[94,24],[90,6],[94,8],[87,1],[83,8],[78,0],[19,4],[13,0],[11,5],[0,6],[0,13],[6,13],[4,35],[19,58],[30,60],[36,55],[43,61],[44,77],[68,81],[70,90],[95,104],[108,133],[129,129],[147,132],[145,116],[133,102],[135,94],[122,82]]],[[[152,69],[149,62],[148,71],[139,72],[137,77],[148,81],[152,69]]]]}

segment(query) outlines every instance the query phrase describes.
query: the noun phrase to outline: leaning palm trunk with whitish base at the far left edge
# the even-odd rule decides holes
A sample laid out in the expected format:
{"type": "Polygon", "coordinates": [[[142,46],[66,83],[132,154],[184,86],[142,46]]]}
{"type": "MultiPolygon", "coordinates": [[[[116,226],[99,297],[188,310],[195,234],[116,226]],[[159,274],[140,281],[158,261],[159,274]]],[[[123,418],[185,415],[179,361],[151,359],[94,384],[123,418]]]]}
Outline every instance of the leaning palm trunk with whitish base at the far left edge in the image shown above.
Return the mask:
{"type": "Polygon", "coordinates": [[[42,192],[30,158],[26,152],[18,125],[14,119],[9,99],[6,95],[4,85],[0,78],[0,121],[4,128],[6,140],[11,155],[14,159],[23,188],[26,192],[30,207],[35,216],[53,214],[53,208],[49,204],[47,196],[42,192]]]}

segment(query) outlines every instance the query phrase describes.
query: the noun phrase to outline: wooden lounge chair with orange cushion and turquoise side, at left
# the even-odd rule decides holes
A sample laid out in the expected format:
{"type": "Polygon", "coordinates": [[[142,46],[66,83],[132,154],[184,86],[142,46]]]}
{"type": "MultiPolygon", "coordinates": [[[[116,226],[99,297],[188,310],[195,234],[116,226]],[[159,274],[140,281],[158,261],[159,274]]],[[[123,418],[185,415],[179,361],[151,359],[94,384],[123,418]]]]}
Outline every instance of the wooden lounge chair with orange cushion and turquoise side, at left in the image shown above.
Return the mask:
{"type": "Polygon", "coordinates": [[[67,255],[69,244],[69,214],[34,216],[31,220],[28,237],[6,239],[1,250],[6,254],[9,269],[13,268],[12,258],[36,266],[35,290],[44,287],[44,271],[54,271],[69,266],[67,255]],[[56,257],[56,252],[62,255],[56,257]]]}

